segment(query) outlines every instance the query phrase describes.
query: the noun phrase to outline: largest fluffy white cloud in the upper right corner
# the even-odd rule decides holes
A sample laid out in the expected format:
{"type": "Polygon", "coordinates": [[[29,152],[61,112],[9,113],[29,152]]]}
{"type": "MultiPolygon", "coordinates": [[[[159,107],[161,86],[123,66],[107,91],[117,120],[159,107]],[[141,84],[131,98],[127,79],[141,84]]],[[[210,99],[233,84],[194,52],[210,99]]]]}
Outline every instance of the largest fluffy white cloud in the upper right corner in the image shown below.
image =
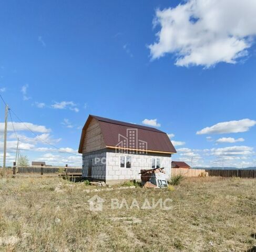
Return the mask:
{"type": "Polygon", "coordinates": [[[234,64],[248,55],[256,35],[255,0],[188,0],[156,11],[158,41],[152,59],[176,55],[177,66],[234,64]]]}

